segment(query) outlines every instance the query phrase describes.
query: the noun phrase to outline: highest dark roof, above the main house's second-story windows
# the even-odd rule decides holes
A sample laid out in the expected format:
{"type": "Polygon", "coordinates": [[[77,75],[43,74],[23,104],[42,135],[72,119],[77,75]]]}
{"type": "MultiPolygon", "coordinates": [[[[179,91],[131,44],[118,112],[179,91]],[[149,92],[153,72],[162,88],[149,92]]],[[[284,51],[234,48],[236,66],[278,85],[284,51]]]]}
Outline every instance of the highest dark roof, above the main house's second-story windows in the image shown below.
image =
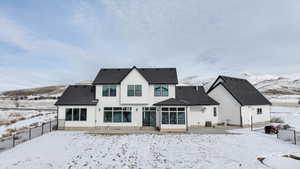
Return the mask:
{"type": "Polygon", "coordinates": [[[138,70],[150,84],[177,84],[176,68],[126,68],[126,69],[101,69],[93,84],[120,84],[132,70],[138,70]]]}

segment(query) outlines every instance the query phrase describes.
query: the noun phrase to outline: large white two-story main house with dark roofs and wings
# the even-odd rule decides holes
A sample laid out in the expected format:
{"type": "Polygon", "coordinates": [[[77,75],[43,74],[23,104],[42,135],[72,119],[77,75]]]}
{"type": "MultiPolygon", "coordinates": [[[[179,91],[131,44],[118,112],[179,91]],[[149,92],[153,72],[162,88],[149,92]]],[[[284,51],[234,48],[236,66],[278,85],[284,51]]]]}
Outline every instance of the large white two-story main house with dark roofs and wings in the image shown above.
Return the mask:
{"type": "Polygon", "coordinates": [[[182,131],[218,123],[219,103],[200,86],[176,86],[175,68],[101,69],[92,85],[69,86],[55,104],[60,128],[182,131]]]}

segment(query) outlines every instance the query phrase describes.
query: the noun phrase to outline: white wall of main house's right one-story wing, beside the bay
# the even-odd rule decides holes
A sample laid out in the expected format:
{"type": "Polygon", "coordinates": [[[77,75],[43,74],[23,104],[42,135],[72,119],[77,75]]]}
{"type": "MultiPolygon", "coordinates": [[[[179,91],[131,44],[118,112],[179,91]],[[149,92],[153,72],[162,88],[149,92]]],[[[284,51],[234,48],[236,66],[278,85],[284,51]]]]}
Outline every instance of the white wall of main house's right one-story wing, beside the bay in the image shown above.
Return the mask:
{"type": "Polygon", "coordinates": [[[187,110],[188,127],[205,126],[205,122],[211,122],[213,125],[219,122],[218,106],[189,106],[187,110]],[[217,116],[214,116],[214,108],[217,109],[217,116]]]}

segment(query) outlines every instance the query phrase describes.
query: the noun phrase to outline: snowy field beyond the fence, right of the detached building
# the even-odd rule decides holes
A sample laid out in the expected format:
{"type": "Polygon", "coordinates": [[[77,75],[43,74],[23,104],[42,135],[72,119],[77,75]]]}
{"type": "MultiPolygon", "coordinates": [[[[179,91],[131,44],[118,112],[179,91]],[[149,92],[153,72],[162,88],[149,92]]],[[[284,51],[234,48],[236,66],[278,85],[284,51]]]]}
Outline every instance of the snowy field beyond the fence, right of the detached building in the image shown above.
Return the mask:
{"type": "Polygon", "coordinates": [[[300,107],[276,107],[272,106],[272,117],[280,117],[284,123],[295,127],[300,131],[300,107]]]}

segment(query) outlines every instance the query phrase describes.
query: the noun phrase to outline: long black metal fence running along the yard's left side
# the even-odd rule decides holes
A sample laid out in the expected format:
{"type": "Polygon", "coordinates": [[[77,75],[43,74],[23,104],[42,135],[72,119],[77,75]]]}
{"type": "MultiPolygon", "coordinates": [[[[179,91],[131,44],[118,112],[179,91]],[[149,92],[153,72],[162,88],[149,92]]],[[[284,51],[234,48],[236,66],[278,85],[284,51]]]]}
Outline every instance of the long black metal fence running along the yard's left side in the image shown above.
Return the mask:
{"type": "Polygon", "coordinates": [[[42,123],[39,126],[28,127],[23,130],[16,131],[11,136],[0,138],[0,152],[33,138],[42,136],[52,130],[57,130],[57,119],[42,123]]]}

